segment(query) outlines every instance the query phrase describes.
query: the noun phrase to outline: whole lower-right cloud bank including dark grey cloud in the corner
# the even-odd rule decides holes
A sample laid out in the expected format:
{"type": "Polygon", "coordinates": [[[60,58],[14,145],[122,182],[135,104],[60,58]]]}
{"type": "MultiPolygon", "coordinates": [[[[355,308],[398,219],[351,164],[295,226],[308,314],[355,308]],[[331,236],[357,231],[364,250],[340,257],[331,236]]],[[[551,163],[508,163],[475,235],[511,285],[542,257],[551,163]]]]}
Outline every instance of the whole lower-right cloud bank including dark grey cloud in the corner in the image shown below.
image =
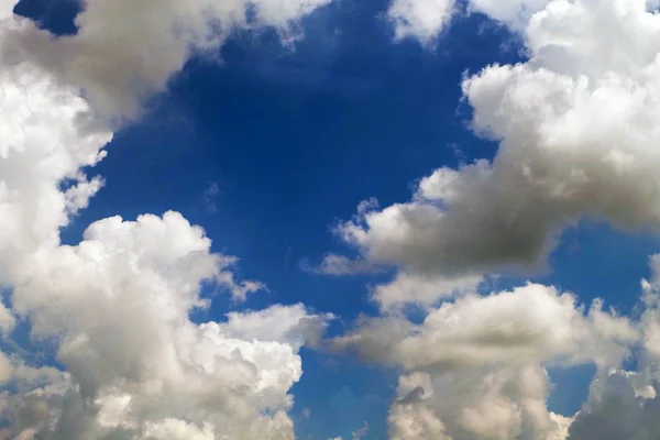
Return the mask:
{"type": "Polygon", "coordinates": [[[539,440],[660,436],[660,256],[641,283],[637,320],[588,310],[571,294],[527,285],[446,302],[416,324],[402,316],[362,318],[334,339],[370,361],[403,370],[389,437],[539,440]],[[622,370],[635,353],[635,371],[622,370]],[[547,367],[594,363],[590,397],[570,417],[548,409],[547,367]]]}

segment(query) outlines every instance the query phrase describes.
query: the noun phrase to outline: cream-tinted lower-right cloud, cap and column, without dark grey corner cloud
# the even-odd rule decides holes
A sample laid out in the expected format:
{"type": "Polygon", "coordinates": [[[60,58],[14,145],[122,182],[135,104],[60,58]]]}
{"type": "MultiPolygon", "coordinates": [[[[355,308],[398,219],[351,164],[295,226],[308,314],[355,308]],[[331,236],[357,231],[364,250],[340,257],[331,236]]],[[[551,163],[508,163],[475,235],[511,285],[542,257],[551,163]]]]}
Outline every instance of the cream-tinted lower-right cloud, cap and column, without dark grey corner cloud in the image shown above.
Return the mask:
{"type": "Polygon", "coordinates": [[[362,318],[333,340],[404,372],[388,425],[392,439],[564,440],[572,419],[547,407],[547,366],[622,365],[644,340],[637,322],[588,310],[571,294],[529,284],[469,294],[416,324],[394,315],[362,318]]]}

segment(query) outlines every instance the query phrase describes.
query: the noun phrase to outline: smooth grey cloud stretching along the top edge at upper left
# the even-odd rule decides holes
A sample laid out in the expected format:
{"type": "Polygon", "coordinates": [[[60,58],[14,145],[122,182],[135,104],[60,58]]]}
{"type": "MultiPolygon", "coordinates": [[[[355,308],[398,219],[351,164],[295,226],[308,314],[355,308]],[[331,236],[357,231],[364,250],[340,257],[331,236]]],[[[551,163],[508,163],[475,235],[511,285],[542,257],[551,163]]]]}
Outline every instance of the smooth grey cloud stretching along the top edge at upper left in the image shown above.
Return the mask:
{"type": "Polygon", "coordinates": [[[4,25],[0,57],[4,63],[30,59],[82,88],[106,117],[134,117],[190,56],[217,57],[212,53],[234,30],[275,28],[290,42],[301,33],[299,21],[328,2],[87,0],[72,36],[54,36],[29,21],[4,25]]]}

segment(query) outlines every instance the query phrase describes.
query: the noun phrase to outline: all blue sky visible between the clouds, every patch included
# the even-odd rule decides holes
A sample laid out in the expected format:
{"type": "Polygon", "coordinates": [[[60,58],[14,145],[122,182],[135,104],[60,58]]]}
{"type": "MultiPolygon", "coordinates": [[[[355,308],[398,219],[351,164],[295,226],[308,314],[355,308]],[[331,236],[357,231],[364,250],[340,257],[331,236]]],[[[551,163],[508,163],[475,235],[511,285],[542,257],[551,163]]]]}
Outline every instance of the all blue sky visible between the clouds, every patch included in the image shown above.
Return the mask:
{"type": "MultiPolygon", "coordinates": [[[[551,2],[531,3],[543,3],[542,10],[551,2]]],[[[383,272],[351,276],[315,273],[305,263],[318,265],[328,253],[369,260],[369,252],[333,232],[362,200],[375,197],[382,208],[405,204],[433,170],[493,160],[498,142],[475,135],[462,80],[492,64],[529,58],[520,32],[495,20],[487,8],[486,13],[468,13],[459,2],[461,12],[425,42],[414,35],[395,38],[385,15],[389,6],[333,1],[297,22],[304,36],[293,46],[283,45],[270,26],[238,29],[212,56],[191,56],[169,76],[164,91],[141,103],[143,113],[116,130],[108,156],[88,172],[103,176],[106,184],[62,229],[63,243],[76,245],[89,224],[105,218],[134,220],[175,210],[204,228],[212,252],[240,258],[233,270],[238,279],[267,286],[240,304],[208,288],[202,296],[211,297],[212,305],[191,315],[196,323],[222,322],[230,311],[304,304],[310,312],[336,317],[326,332],[331,341],[359,328],[355,320],[363,314],[388,316],[370,288],[413,271],[413,263],[386,261],[383,272]]],[[[22,0],[15,8],[55,34],[75,33],[79,10],[68,0],[22,0]]],[[[651,276],[649,255],[660,249],[652,232],[656,220],[639,215],[642,220],[631,220],[631,232],[622,231],[617,224],[624,220],[614,215],[614,226],[608,224],[610,211],[598,209],[587,207],[578,216],[597,220],[550,231],[561,239],[542,271],[494,270],[488,275],[499,277],[476,290],[487,295],[531,280],[574,293],[586,308],[603,298],[604,310],[613,306],[637,322],[644,312],[640,279],[651,276]]],[[[364,361],[351,350],[306,346],[300,358],[302,376],[290,389],[295,404],[289,411],[297,438],[350,439],[365,422],[363,439],[388,438],[391,405],[407,367],[364,361]]],[[[598,369],[592,362],[548,362],[547,369],[556,384],[544,398],[548,409],[572,417],[588,400],[598,369]]],[[[454,431],[455,440],[504,439],[460,432],[454,431]]]]}

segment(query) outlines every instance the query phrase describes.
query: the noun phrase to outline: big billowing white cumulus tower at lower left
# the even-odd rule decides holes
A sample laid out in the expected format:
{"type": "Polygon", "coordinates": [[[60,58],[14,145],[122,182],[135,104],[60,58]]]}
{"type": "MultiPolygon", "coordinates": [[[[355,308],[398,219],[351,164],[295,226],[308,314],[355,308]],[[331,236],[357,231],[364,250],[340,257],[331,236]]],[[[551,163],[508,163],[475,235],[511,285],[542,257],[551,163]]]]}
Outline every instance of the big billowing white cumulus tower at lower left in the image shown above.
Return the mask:
{"type": "Polygon", "coordinates": [[[288,392],[302,373],[298,350],[318,340],[324,318],[276,306],[193,323],[190,310],[205,306],[200,283],[222,282],[223,258],[209,246],[201,229],[169,212],[106,219],[75,248],[25,256],[14,309],[30,317],[35,336],[58,338],[70,385],[43,392],[47,418],[14,424],[12,432],[293,439],[288,392]],[[68,414],[53,413],[65,404],[76,405],[74,426],[62,422],[68,414]]]}

